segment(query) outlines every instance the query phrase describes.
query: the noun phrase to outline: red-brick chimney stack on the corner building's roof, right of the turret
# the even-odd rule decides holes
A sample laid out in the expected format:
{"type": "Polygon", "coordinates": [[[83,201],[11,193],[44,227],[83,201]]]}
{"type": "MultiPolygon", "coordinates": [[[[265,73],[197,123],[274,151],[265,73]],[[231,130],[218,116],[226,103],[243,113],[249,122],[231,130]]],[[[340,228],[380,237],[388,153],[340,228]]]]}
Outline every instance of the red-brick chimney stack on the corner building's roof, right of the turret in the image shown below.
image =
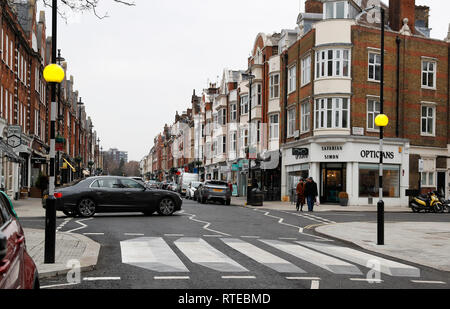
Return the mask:
{"type": "Polygon", "coordinates": [[[408,19],[408,26],[415,33],[416,1],[415,0],[389,0],[389,25],[394,31],[403,28],[403,20],[408,19]]]}

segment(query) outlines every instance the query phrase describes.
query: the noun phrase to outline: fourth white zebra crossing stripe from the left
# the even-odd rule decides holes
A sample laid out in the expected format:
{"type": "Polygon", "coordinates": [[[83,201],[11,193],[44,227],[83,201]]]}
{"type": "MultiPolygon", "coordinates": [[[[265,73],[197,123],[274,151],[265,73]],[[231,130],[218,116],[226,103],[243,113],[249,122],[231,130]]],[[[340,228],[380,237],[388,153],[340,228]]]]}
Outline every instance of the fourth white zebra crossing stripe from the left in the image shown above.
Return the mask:
{"type": "Polygon", "coordinates": [[[307,249],[299,245],[279,240],[260,240],[260,241],[335,274],[342,274],[342,275],[362,274],[361,271],[355,265],[349,264],[342,260],[338,260],[328,255],[324,255],[322,253],[318,253],[316,251],[307,249]]]}

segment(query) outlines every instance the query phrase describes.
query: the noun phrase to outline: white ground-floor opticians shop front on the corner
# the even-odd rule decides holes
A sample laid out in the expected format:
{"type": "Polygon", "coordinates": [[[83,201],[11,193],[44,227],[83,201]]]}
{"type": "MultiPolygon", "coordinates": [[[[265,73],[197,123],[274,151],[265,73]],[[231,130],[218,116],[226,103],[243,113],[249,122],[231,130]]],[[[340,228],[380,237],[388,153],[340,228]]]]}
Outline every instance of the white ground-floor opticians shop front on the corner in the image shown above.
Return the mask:
{"type": "MultiPolygon", "coordinates": [[[[379,140],[369,137],[314,137],[283,148],[282,195],[292,197],[300,178],[313,177],[322,204],[376,205],[379,195],[379,140]]],[[[409,188],[409,143],[385,140],[383,200],[406,206],[409,188]]]]}

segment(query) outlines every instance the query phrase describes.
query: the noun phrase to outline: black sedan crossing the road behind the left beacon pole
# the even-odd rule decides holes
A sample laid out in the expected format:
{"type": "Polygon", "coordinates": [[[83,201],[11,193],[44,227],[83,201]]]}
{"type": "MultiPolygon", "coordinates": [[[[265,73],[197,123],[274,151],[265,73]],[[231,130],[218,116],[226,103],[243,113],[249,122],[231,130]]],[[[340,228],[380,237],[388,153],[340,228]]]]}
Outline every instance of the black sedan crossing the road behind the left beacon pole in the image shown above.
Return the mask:
{"type": "MultiPolygon", "coordinates": [[[[174,192],[150,189],[127,177],[98,176],[55,190],[56,210],[68,216],[92,217],[103,212],[155,211],[170,216],[181,210],[182,199],[174,192]]],[[[43,202],[45,207],[45,201],[43,202]]]]}

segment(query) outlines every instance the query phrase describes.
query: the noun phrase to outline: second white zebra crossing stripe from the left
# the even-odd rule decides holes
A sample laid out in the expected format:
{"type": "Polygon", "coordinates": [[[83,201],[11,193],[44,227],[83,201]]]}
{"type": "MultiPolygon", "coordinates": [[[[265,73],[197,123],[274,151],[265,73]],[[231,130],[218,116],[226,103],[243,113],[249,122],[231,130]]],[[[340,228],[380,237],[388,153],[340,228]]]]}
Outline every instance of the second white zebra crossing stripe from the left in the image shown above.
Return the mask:
{"type": "Polygon", "coordinates": [[[175,245],[192,263],[221,272],[248,272],[248,269],[216,250],[201,238],[180,238],[175,241],[175,245]]]}

